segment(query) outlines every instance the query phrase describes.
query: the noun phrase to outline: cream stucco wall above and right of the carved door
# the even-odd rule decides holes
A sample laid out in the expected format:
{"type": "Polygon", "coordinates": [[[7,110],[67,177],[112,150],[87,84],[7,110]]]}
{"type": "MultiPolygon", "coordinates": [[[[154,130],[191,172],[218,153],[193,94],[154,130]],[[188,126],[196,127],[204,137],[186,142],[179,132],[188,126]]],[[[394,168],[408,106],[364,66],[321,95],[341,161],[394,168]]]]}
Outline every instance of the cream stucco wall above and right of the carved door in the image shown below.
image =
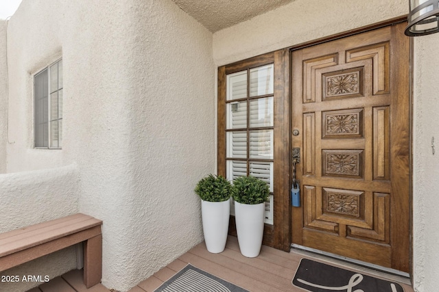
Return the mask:
{"type": "MultiPolygon", "coordinates": [[[[213,34],[213,57],[221,66],[241,59],[316,40],[408,13],[405,0],[296,0],[276,10],[213,34]]],[[[414,41],[414,288],[436,291],[439,274],[439,35],[414,41]],[[436,155],[431,154],[431,137],[436,155]]]]}

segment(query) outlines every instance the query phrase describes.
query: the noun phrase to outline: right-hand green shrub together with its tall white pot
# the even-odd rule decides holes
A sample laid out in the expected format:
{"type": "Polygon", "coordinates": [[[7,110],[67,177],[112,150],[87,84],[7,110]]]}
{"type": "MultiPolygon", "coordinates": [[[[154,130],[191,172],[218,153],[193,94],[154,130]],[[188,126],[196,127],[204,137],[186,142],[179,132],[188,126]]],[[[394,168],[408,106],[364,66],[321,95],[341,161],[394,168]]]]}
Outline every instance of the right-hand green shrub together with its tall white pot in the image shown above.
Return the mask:
{"type": "Polygon", "coordinates": [[[236,231],[244,256],[253,258],[261,251],[265,201],[269,195],[268,184],[254,176],[240,176],[233,181],[236,231]]]}

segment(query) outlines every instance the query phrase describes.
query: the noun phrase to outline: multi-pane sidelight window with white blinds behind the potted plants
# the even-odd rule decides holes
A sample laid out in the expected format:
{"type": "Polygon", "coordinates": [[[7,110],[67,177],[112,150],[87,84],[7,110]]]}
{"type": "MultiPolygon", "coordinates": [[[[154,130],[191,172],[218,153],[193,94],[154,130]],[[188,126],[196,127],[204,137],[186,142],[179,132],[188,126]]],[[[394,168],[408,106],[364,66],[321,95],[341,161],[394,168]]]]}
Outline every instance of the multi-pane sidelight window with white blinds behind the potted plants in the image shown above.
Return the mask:
{"type": "MultiPolygon", "coordinates": [[[[273,192],[274,66],[226,75],[226,176],[255,176],[273,192]]],[[[265,223],[273,224],[273,196],[265,223]]]]}

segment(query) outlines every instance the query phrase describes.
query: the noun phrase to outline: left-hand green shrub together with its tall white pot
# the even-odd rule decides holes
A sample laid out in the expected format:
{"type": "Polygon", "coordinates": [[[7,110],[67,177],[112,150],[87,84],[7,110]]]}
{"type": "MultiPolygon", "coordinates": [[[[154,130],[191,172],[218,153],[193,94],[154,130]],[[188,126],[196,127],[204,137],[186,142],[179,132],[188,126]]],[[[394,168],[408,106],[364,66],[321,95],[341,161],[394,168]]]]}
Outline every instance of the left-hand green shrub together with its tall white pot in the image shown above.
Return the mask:
{"type": "Polygon", "coordinates": [[[230,217],[230,194],[232,185],[223,176],[209,174],[195,187],[201,198],[201,215],[204,241],[209,252],[224,251],[230,217]]]}

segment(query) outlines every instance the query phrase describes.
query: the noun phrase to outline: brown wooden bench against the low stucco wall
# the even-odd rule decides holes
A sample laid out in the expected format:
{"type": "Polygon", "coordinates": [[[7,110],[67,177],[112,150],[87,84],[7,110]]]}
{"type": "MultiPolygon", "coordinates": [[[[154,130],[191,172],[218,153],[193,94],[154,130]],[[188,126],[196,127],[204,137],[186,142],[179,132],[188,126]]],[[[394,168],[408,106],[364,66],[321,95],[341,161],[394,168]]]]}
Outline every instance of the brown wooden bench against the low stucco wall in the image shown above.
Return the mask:
{"type": "Polygon", "coordinates": [[[102,278],[102,221],[81,213],[0,234],[0,271],[84,241],[84,284],[102,278]]]}

